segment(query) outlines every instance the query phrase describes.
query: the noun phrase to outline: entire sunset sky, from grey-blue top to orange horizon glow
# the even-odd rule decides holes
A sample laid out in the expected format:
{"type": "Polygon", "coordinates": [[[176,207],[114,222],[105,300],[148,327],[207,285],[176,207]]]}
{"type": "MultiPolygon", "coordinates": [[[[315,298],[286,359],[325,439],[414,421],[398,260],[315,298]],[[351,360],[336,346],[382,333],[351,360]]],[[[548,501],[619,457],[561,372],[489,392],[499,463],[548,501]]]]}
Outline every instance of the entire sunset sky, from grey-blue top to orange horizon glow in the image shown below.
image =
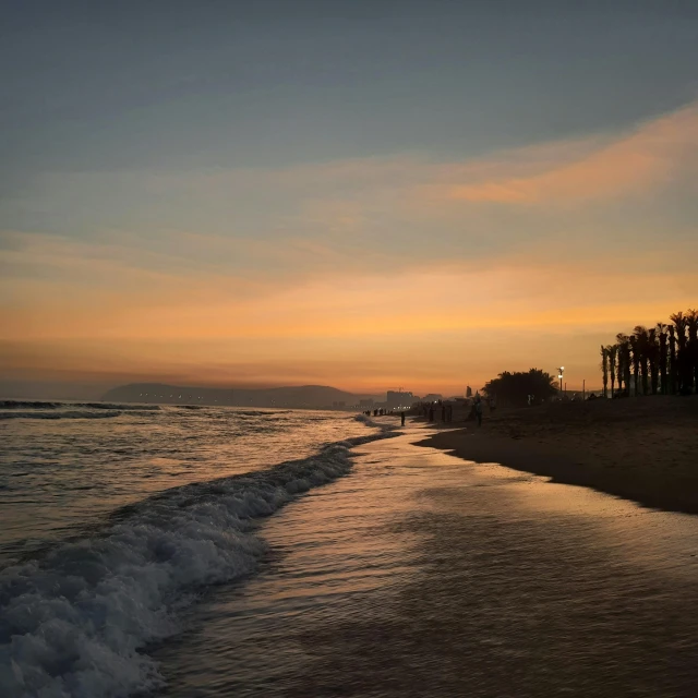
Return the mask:
{"type": "Polygon", "coordinates": [[[10,0],[0,32],[0,385],[577,388],[698,305],[690,0],[10,0]]]}

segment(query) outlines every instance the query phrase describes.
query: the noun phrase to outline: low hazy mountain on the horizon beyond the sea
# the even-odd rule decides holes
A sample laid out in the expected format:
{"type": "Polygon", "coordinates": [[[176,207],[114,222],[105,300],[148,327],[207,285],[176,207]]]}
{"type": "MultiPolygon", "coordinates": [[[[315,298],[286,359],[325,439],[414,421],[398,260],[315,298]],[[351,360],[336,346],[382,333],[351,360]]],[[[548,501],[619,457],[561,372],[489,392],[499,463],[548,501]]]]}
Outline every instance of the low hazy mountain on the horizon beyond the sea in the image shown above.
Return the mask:
{"type": "Polygon", "coordinates": [[[165,383],[130,383],[108,390],[109,402],[158,402],[160,405],[228,405],[231,407],[340,408],[359,400],[384,396],[357,395],[327,385],[301,385],[281,388],[204,388],[165,383]]]}

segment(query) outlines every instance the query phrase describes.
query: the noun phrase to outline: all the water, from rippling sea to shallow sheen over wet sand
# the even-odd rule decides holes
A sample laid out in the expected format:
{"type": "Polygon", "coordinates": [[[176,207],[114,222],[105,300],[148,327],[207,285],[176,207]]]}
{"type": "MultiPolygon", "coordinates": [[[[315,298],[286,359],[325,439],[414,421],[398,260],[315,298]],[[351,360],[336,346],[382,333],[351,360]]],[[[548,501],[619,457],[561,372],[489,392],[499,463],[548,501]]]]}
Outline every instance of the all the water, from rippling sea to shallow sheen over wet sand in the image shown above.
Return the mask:
{"type": "Polygon", "coordinates": [[[696,517],[398,424],[0,402],[0,696],[698,695],[696,517]]]}

